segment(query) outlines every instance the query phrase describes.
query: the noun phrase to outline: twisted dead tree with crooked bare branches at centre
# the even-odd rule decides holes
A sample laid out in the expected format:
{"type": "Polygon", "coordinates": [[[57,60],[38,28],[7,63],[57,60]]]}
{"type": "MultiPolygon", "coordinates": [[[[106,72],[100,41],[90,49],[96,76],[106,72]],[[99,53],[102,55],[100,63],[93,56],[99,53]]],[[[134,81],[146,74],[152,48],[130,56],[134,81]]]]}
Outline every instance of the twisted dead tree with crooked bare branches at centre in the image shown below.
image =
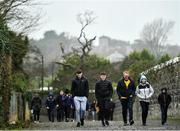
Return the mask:
{"type": "Polygon", "coordinates": [[[80,67],[74,67],[74,65],[65,64],[63,62],[56,62],[57,64],[62,65],[64,67],[69,67],[72,69],[84,68],[84,58],[89,55],[90,51],[92,50],[93,41],[96,39],[96,36],[94,36],[93,38],[87,38],[85,29],[89,25],[91,25],[95,19],[96,17],[94,16],[93,11],[85,11],[84,13],[80,13],[77,15],[77,21],[81,25],[81,30],[77,38],[78,43],[80,45],[78,45],[77,47],[72,47],[72,52],[68,52],[68,53],[65,52],[63,43],[60,43],[62,58],[65,59],[67,55],[78,54],[80,56],[80,67]]]}

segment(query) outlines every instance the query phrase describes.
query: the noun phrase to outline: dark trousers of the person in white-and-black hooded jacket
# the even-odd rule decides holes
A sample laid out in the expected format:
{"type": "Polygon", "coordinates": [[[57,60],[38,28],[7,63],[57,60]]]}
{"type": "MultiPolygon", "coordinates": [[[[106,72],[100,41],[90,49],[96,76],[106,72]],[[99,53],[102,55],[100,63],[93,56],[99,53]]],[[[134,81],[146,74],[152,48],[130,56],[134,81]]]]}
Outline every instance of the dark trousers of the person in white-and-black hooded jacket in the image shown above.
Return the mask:
{"type": "Polygon", "coordinates": [[[146,119],[149,110],[149,102],[140,101],[141,110],[142,110],[142,123],[146,124],[146,119]]]}

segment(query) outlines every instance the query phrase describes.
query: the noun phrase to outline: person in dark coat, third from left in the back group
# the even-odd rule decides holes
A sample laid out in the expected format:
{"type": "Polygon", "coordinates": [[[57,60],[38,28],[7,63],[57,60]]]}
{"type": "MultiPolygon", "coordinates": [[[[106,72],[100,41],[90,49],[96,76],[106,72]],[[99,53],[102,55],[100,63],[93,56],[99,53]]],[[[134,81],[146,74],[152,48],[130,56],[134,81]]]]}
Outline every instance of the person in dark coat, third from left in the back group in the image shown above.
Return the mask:
{"type": "Polygon", "coordinates": [[[57,121],[62,122],[64,120],[64,92],[61,90],[56,97],[56,109],[57,109],[57,121]]]}

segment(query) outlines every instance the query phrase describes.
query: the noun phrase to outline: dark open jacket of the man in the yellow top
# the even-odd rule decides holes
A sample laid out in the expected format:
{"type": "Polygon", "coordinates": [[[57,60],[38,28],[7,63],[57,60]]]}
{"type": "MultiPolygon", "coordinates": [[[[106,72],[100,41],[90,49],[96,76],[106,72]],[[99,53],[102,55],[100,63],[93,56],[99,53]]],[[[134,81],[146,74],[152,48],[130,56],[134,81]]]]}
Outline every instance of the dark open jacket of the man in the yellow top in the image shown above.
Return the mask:
{"type": "Polygon", "coordinates": [[[124,78],[118,82],[117,85],[117,94],[119,97],[129,97],[130,95],[135,95],[136,87],[134,84],[134,81],[132,79],[130,80],[130,84],[128,88],[126,89],[126,84],[124,83],[124,78]]]}

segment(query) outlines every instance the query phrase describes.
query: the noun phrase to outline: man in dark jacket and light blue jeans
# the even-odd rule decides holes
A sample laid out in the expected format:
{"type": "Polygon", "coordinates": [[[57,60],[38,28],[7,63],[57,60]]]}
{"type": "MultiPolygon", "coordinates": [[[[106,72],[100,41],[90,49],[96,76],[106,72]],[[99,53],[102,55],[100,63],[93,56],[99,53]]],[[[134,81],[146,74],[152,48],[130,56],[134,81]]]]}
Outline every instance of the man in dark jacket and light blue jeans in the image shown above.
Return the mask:
{"type": "Polygon", "coordinates": [[[77,127],[80,127],[84,125],[89,85],[88,80],[83,76],[82,70],[77,70],[75,74],[76,77],[72,80],[71,94],[74,97],[77,127]]]}

